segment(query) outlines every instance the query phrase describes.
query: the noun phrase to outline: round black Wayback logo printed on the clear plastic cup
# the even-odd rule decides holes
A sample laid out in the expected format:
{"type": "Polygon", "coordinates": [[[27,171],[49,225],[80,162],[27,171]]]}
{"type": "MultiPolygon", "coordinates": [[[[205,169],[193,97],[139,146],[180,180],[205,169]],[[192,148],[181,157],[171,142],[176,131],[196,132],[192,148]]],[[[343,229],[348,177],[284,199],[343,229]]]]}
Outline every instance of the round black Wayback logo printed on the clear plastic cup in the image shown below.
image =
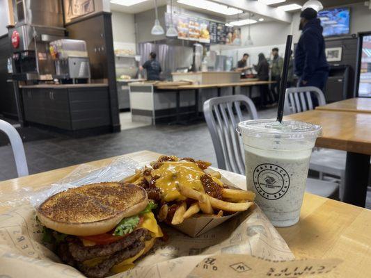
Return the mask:
{"type": "Polygon", "coordinates": [[[283,167],[265,163],[255,167],[253,182],[265,199],[280,199],[290,187],[290,176],[283,167]]]}

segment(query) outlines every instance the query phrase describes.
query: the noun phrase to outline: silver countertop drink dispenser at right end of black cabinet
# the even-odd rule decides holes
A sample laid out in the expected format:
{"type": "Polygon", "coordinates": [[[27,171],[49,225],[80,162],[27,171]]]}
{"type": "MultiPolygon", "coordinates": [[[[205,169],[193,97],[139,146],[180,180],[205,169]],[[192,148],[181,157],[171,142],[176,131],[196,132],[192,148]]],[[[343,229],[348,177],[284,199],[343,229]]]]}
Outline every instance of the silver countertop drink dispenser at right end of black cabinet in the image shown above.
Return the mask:
{"type": "Polygon", "coordinates": [[[63,83],[70,79],[72,83],[90,81],[90,63],[84,40],[56,40],[50,42],[49,50],[55,61],[57,79],[63,83]]]}

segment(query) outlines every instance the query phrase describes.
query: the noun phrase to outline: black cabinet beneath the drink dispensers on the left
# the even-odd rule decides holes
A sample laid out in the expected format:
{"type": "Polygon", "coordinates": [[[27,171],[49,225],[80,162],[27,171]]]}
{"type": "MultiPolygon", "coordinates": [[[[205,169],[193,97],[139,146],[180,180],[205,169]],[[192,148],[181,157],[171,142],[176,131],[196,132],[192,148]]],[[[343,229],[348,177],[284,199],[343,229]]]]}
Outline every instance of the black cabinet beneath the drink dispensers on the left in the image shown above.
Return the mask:
{"type": "Polygon", "coordinates": [[[77,131],[111,124],[108,87],[22,88],[24,118],[77,131]]]}

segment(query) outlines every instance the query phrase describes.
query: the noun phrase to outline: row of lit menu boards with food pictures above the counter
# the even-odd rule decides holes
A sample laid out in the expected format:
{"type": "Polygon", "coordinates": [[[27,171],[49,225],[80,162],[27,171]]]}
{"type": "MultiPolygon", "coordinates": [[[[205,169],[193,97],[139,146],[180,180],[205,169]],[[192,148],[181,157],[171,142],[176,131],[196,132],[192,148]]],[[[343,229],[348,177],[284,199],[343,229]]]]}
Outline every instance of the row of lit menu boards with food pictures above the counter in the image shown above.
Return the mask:
{"type": "MultiPolygon", "coordinates": [[[[166,29],[170,26],[171,15],[165,15],[166,29]]],[[[173,25],[177,28],[177,38],[213,44],[241,44],[241,28],[227,27],[220,22],[173,14],[173,25]]]]}

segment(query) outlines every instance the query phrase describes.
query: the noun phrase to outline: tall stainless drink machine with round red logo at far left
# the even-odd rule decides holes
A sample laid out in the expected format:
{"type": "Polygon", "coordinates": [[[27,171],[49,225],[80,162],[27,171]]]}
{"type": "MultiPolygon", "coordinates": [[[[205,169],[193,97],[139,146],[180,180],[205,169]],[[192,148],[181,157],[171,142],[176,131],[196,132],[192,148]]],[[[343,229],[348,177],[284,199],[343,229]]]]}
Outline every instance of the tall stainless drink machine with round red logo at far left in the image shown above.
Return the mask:
{"type": "Polygon", "coordinates": [[[49,42],[65,36],[61,1],[13,0],[15,26],[8,28],[13,79],[52,79],[55,67],[49,42]]]}

